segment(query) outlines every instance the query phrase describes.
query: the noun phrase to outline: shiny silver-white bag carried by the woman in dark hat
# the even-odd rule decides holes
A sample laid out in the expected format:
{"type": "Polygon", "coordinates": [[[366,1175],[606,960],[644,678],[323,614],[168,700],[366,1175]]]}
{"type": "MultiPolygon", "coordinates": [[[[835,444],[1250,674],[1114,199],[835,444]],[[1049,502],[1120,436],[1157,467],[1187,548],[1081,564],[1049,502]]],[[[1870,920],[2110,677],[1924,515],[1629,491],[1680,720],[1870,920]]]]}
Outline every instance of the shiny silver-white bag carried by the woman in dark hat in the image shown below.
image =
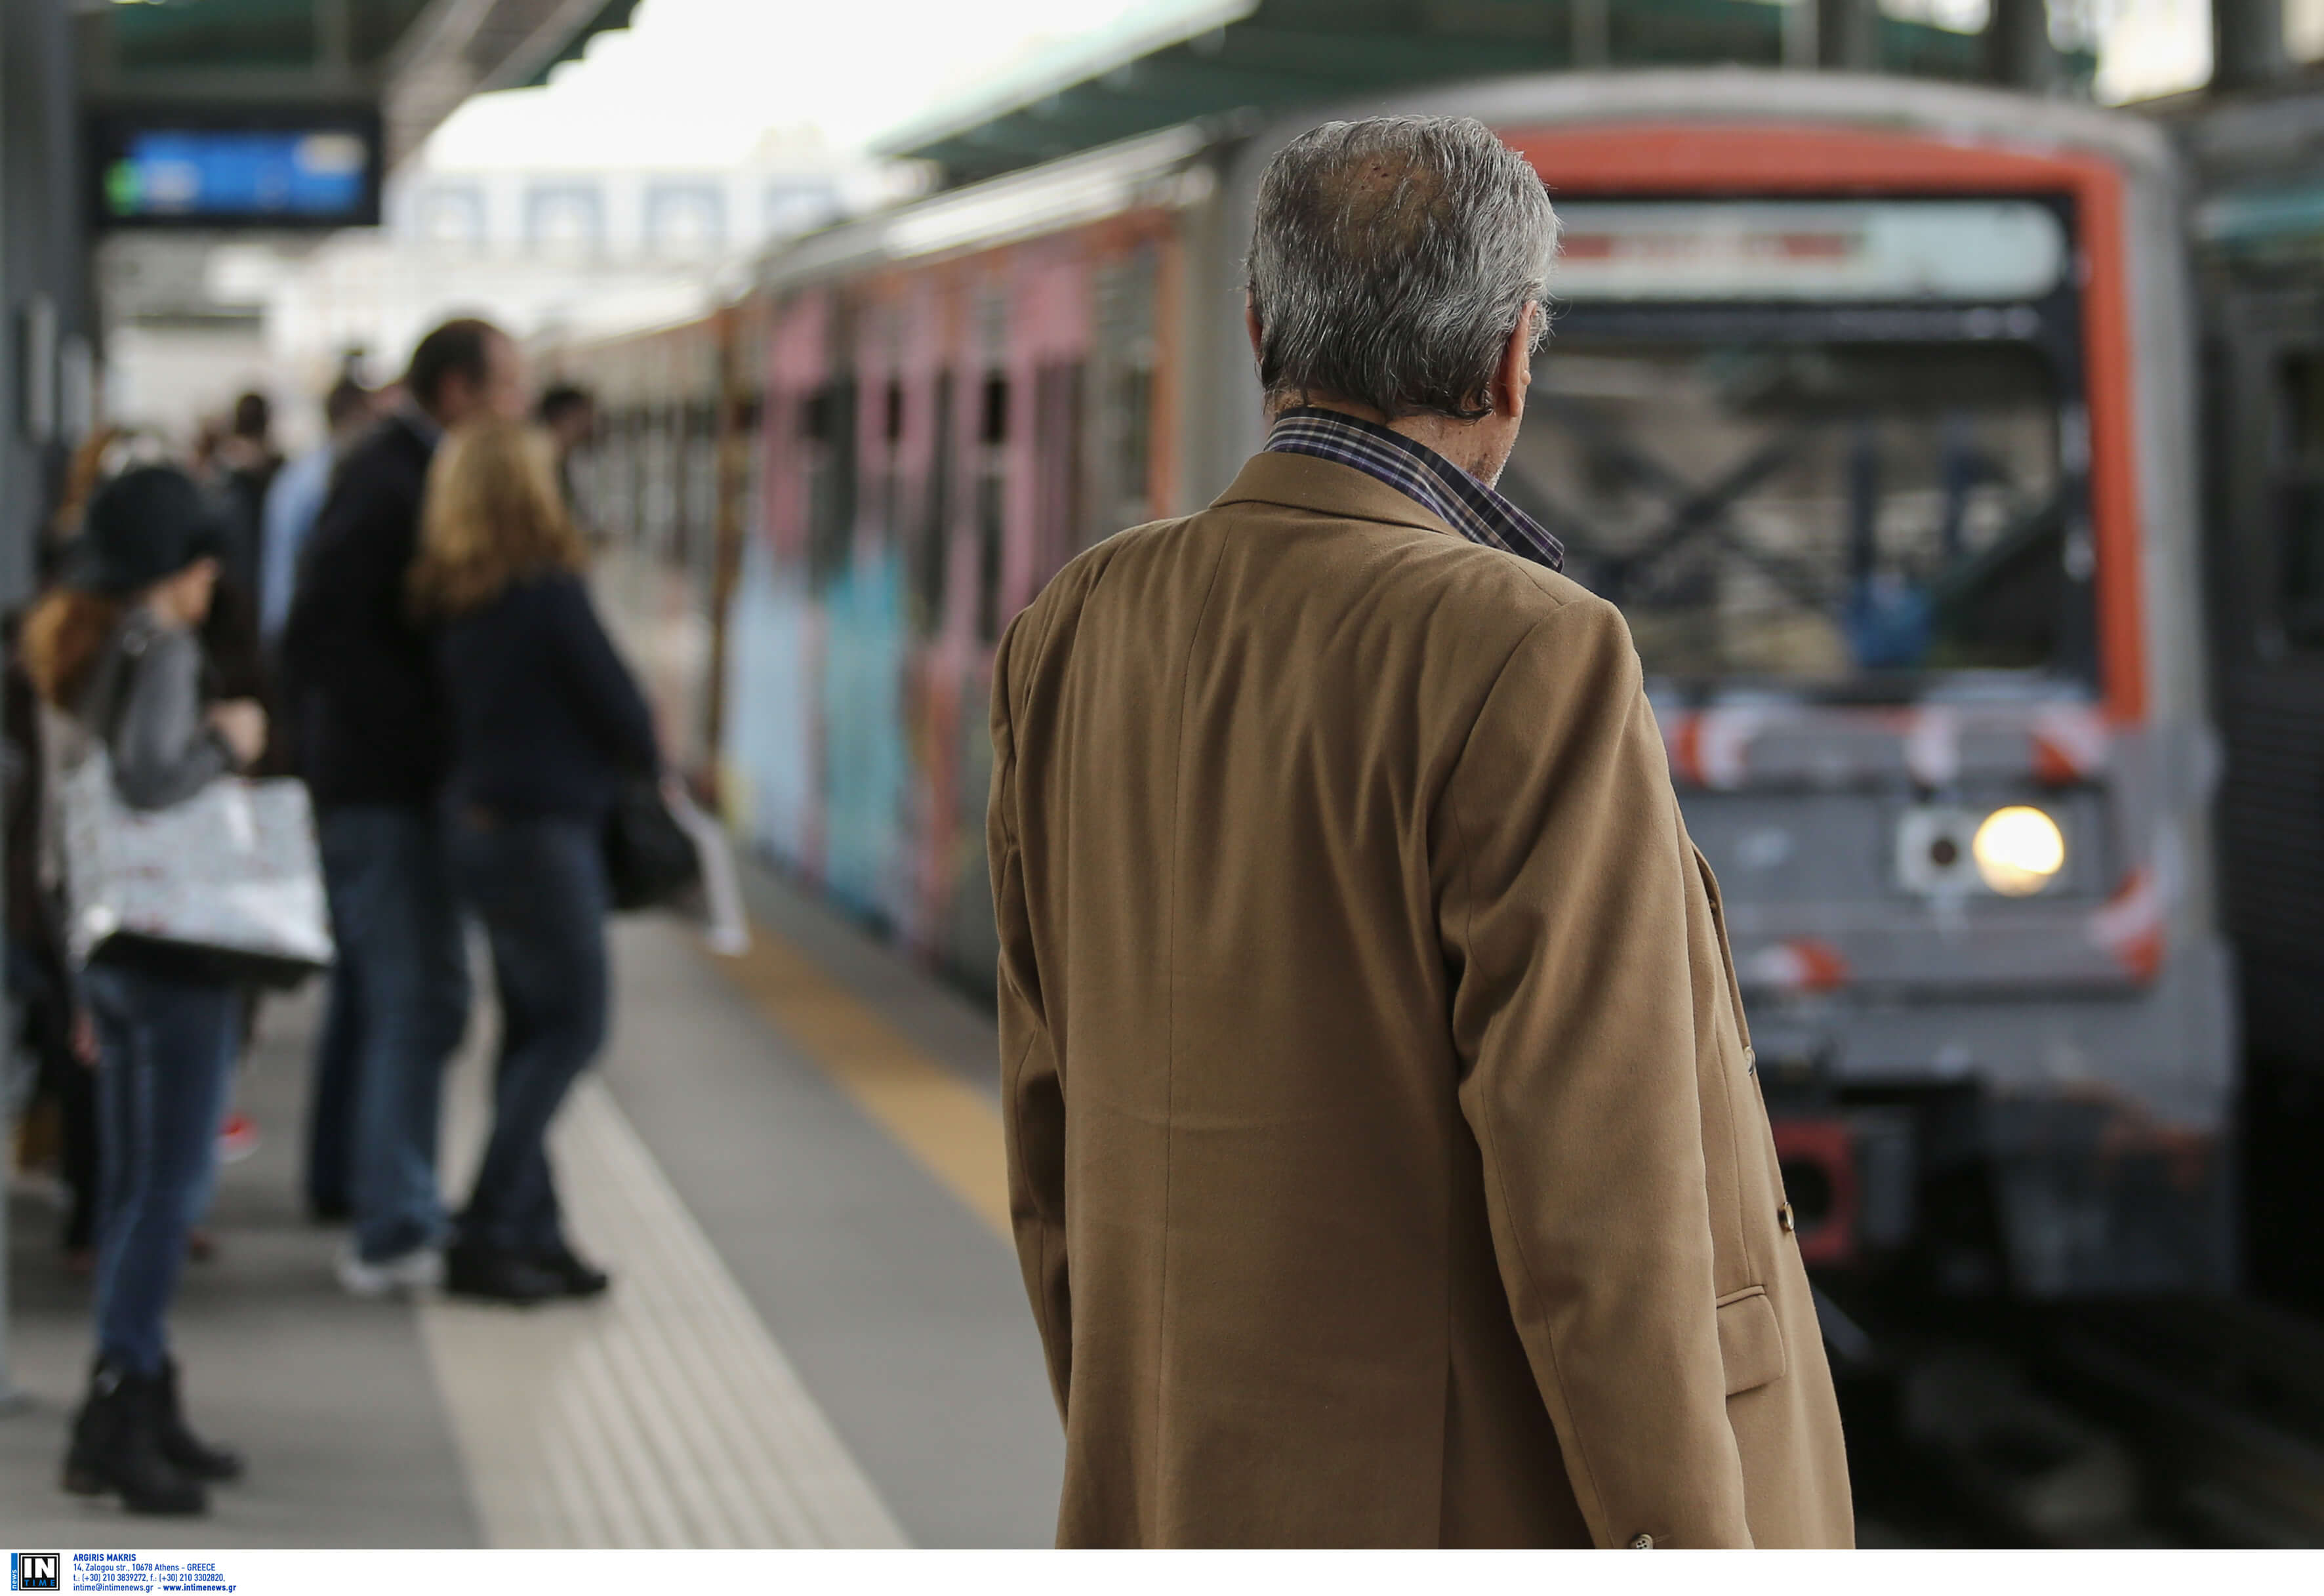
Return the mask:
{"type": "Polygon", "coordinates": [[[221,776],[170,808],[132,808],[93,750],[58,785],[65,946],[165,948],[221,980],[295,985],[328,969],[330,906],[297,781],[221,776]]]}

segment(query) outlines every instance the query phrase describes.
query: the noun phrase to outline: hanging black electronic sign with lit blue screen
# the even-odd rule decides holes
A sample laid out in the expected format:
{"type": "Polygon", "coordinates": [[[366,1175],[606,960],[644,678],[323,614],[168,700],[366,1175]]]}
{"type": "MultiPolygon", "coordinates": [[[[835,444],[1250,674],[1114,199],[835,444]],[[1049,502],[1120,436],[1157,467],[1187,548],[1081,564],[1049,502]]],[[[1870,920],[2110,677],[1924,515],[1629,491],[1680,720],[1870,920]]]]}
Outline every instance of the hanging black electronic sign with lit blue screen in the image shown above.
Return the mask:
{"type": "Polygon", "coordinates": [[[91,149],[100,228],[379,225],[370,109],[109,109],[91,149]]]}

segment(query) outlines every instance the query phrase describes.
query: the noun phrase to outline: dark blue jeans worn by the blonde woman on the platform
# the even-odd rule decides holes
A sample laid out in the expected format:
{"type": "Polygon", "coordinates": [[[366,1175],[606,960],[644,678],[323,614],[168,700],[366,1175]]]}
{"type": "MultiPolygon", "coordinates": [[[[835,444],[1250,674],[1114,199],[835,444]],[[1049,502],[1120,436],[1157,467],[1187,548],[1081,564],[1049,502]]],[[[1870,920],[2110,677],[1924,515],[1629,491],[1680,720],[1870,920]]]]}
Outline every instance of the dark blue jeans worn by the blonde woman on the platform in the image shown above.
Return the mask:
{"type": "Polygon", "coordinates": [[[565,1245],[548,1171],[548,1122],[604,1048],[604,855],[581,820],[458,822],[460,885],[493,941],[500,1064],[493,1141],[460,1215],[476,1248],[553,1252],[565,1245]]]}

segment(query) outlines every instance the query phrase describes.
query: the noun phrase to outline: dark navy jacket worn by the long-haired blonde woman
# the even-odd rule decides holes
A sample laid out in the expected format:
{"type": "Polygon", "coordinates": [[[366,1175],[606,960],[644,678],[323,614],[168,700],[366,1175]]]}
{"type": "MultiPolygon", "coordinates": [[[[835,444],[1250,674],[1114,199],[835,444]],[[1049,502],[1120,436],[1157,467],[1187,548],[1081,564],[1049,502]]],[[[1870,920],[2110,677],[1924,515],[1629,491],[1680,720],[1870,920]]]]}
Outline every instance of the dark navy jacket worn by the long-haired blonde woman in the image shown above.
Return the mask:
{"type": "Polygon", "coordinates": [[[497,820],[602,820],[658,762],[653,711],[579,576],[521,581],[444,627],[453,804],[497,820]]]}

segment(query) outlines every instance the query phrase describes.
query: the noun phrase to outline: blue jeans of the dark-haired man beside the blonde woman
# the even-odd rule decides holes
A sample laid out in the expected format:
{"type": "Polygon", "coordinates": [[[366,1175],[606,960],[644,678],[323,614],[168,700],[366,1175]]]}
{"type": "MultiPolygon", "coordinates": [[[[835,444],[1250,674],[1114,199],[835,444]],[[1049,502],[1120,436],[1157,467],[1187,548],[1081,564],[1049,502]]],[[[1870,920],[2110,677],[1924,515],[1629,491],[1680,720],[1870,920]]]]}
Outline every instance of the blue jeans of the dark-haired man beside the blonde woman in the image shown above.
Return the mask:
{"type": "Polygon", "coordinates": [[[339,1069],[353,1062],[356,1252],[379,1264],[444,1238],[437,1127],[444,1064],[467,1029],[467,946],[435,813],[328,808],[316,832],[339,941],[318,1076],[335,1048],[339,1069]],[[342,985],[351,1013],[339,1013],[342,985]]]}

